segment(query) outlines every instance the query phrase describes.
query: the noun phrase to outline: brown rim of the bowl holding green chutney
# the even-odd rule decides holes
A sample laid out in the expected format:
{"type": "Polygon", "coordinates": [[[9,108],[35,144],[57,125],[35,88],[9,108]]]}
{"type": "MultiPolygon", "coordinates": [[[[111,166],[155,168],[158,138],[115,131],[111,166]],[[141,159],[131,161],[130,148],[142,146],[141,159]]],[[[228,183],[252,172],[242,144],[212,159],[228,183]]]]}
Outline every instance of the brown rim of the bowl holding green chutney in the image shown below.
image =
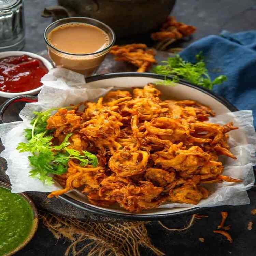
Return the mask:
{"type": "MultiPolygon", "coordinates": [[[[11,186],[2,181],[0,181],[0,187],[11,190],[11,186]]],[[[14,194],[21,196],[23,199],[25,199],[29,203],[31,210],[33,211],[33,214],[34,214],[33,224],[32,224],[32,229],[31,229],[30,233],[28,234],[28,237],[22,243],[20,243],[18,245],[18,247],[14,248],[12,251],[4,254],[3,256],[11,256],[11,255],[14,255],[15,253],[17,253],[18,251],[22,250],[34,237],[35,233],[37,232],[37,228],[38,228],[38,211],[37,211],[37,208],[35,207],[35,204],[33,203],[33,201],[25,193],[14,193],[14,194]]]]}

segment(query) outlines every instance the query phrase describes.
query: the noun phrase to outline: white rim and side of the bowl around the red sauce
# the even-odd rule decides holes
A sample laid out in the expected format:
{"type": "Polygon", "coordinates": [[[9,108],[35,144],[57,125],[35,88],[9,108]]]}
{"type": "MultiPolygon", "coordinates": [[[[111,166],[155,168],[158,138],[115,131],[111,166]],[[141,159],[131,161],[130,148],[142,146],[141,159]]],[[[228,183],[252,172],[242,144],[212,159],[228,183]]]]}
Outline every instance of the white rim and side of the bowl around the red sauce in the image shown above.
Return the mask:
{"type": "MultiPolygon", "coordinates": [[[[9,56],[20,56],[20,55],[24,55],[24,54],[28,55],[32,58],[41,60],[48,70],[53,68],[53,65],[47,59],[43,58],[42,56],[40,56],[38,54],[30,53],[30,52],[23,52],[23,51],[0,52],[0,59],[6,58],[9,56]]],[[[6,93],[5,91],[0,91],[0,97],[12,98],[12,97],[19,96],[19,95],[28,95],[28,94],[34,95],[34,94],[39,93],[39,91],[42,89],[42,87],[43,86],[40,86],[40,87],[35,88],[30,91],[22,91],[21,93],[6,93]]]]}

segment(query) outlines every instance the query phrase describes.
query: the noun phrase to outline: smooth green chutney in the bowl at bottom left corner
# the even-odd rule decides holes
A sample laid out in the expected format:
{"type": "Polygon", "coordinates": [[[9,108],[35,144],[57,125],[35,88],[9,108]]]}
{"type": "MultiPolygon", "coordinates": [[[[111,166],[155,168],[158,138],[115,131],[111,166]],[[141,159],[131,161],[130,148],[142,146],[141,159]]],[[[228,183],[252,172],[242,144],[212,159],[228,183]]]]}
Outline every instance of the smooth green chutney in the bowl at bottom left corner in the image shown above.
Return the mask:
{"type": "Polygon", "coordinates": [[[0,255],[17,248],[33,226],[33,211],[21,196],[0,187],[0,255]]]}

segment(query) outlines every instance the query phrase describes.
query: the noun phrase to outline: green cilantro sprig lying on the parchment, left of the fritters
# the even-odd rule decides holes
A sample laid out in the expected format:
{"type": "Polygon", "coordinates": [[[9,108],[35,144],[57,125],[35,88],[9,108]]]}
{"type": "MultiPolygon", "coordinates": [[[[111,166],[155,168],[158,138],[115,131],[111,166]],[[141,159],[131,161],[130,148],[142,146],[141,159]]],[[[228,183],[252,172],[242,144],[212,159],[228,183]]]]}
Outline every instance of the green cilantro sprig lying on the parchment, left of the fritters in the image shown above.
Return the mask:
{"type": "MultiPolygon", "coordinates": [[[[73,107],[66,107],[73,108],[73,107]]],[[[70,142],[68,139],[72,133],[66,135],[60,145],[53,145],[54,138],[47,130],[47,120],[52,111],[59,108],[49,109],[44,112],[33,112],[36,116],[31,121],[32,129],[25,129],[24,136],[28,140],[27,143],[20,142],[17,146],[19,152],[30,152],[28,156],[30,165],[33,167],[30,170],[30,177],[41,180],[46,185],[53,183],[52,177],[49,174],[63,174],[67,172],[68,161],[77,159],[81,166],[88,164],[96,167],[98,165],[97,157],[83,150],[82,152],[69,148],[70,142]]]]}

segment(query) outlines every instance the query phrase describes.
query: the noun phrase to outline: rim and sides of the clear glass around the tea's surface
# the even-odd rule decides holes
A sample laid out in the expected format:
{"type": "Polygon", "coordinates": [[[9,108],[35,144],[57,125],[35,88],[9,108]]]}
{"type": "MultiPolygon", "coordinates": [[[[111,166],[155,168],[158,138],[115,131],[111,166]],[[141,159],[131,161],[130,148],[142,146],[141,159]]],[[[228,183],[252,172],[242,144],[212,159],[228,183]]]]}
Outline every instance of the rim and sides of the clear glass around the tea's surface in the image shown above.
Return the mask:
{"type": "MultiPolygon", "coordinates": [[[[47,44],[48,54],[56,67],[63,67],[83,74],[85,77],[87,77],[91,76],[97,70],[98,66],[104,60],[106,54],[110,51],[111,47],[115,43],[115,33],[108,25],[96,19],[72,17],[57,20],[46,27],[44,30],[44,40],[47,44]],[[74,22],[86,23],[102,29],[109,37],[109,44],[105,48],[94,53],[73,54],[60,51],[49,43],[47,37],[54,28],[63,24],[74,22]]],[[[66,40],[68,40],[68,35],[66,40]]]]}

